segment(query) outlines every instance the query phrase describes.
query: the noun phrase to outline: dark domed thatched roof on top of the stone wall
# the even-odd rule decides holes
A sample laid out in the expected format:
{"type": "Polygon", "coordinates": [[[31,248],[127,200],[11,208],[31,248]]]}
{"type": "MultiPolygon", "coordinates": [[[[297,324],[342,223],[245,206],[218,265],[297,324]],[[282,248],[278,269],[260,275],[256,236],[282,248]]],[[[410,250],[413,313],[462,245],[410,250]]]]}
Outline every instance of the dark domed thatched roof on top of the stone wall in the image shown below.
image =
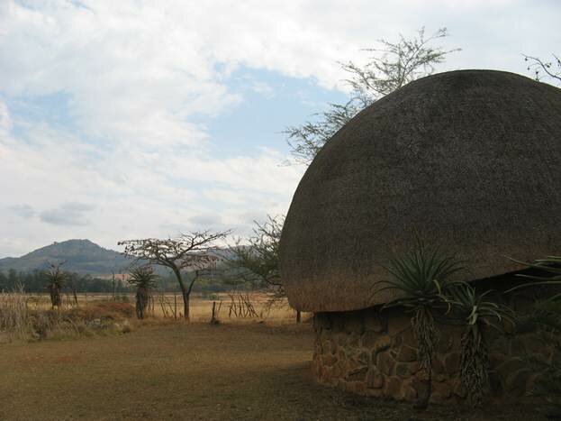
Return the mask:
{"type": "Polygon", "coordinates": [[[422,78],[369,106],[304,174],[285,220],[281,277],[293,307],[345,311],[380,264],[426,243],[466,259],[463,279],[561,252],[561,89],[512,73],[422,78]]]}

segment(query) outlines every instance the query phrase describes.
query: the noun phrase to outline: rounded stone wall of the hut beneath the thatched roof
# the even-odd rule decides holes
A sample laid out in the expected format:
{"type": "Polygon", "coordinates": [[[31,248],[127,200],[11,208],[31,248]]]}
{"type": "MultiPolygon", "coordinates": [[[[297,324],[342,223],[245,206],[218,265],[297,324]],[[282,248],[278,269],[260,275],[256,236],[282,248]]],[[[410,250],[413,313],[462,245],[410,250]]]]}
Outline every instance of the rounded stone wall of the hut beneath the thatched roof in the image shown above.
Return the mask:
{"type": "MultiPolygon", "coordinates": [[[[439,325],[433,357],[433,403],[466,401],[459,380],[461,326],[439,325]]],[[[324,384],[380,398],[414,401],[422,388],[416,339],[409,317],[399,309],[378,307],[341,313],[316,313],[312,370],[324,384]]],[[[531,399],[542,375],[522,357],[538,353],[558,358],[535,334],[494,335],[488,339],[490,398],[503,402],[531,399]]]]}

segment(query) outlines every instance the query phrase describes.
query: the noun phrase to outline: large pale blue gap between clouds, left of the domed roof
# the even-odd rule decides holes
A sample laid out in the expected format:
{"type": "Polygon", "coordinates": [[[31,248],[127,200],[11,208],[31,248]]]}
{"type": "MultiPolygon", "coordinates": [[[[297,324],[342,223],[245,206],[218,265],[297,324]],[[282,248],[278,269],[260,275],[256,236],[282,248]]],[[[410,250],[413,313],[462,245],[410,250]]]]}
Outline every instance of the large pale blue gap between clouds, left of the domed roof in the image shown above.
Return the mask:
{"type": "Polygon", "coordinates": [[[314,78],[288,78],[278,72],[242,67],[231,74],[228,87],[243,97],[240,105],[218,116],[202,115],[219,154],[258,153],[269,146],[283,153],[285,128],[316,119],[330,103],[345,102],[347,95],[336,88],[318,87],[314,78]]]}

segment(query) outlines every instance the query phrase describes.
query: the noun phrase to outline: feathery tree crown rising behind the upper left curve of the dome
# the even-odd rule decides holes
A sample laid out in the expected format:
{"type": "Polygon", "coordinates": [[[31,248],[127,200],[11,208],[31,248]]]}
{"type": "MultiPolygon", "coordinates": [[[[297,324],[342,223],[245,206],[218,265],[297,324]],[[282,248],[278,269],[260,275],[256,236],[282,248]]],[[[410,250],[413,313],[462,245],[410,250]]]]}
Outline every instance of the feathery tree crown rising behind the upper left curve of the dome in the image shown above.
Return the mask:
{"type": "Polygon", "coordinates": [[[365,66],[352,61],[339,63],[350,75],[345,80],[351,88],[348,102],[343,105],[330,104],[327,111],[315,114],[317,121],[286,128],[285,134],[288,135],[287,142],[292,148],[294,160],[309,164],[325,142],[359,111],[412,80],[434,72],[435,65],[443,62],[449,53],[460,50],[430,46],[433,41],[446,36],[448,30],[440,28],[426,38],[425,29],[421,28],[412,39],[405,39],[400,34],[396,42],[379,40],[379,48],[365,49],[375,54],[365,66]]]}

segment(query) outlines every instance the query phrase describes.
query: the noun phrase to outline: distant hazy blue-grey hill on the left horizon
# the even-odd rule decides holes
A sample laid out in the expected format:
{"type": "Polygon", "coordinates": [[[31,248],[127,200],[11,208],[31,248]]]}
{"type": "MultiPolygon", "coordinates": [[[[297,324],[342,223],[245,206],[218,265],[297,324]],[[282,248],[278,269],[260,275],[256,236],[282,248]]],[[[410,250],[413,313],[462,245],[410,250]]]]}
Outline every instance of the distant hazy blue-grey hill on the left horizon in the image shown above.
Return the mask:
{"type": "Polygon", "coordinates": [[[106,275],[113,271],[115,273],[126,271],[132,260],[89,240],[68,240],[41,247],[22,257],[0,259],[0,270],[4,272],[10,269],[24,272],[43,270],[48,267],[48,262],[60,261],[66,261],[64,269],[68,271],[106,275]]]}

